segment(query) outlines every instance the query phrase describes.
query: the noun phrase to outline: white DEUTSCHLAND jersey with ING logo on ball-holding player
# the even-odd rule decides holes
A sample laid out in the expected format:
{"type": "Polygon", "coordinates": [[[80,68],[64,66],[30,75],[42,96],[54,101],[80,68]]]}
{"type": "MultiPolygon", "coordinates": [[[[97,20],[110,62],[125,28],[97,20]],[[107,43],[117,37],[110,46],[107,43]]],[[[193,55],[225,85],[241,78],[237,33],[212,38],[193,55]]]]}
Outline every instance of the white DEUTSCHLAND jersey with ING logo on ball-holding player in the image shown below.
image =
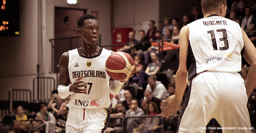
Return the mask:
{"type": "Polygon", "coordinates": [[[68,51],[68,72],[71,83],[74,83],[78,77],[84,76],[87,86],[86,94],[73,93],[68,104],[77,108],[96,109],[108,108],[110,106],[110,77],[105,70],[105,63],[111,50],[100,48],[97,55],[85,57],[80,49],[68,51]]]}

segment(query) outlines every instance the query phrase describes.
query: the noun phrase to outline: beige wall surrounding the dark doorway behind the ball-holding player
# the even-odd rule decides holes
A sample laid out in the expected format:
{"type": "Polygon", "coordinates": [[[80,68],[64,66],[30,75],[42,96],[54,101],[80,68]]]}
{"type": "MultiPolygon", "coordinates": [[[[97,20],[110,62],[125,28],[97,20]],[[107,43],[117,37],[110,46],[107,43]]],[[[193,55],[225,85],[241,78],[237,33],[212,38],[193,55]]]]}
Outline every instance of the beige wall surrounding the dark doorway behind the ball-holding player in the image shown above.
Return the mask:
{"type": "MultiPolygon", "coordinates": [[[[51,76],[52,55],[49,39],[54,38],[54,8],[87,9],[99,12],[102,45],[111,45],[111,0],[79,0],[68,5],[66,0],[41,0],[42,42],[39,46],[40,75],[51,76]]],[[[0,36],[0,100],[8,100],[10,88],[33,89],[33,77],[37,76],[38,64],[38,1],[20,0],[20,36],[0,36]]]]}

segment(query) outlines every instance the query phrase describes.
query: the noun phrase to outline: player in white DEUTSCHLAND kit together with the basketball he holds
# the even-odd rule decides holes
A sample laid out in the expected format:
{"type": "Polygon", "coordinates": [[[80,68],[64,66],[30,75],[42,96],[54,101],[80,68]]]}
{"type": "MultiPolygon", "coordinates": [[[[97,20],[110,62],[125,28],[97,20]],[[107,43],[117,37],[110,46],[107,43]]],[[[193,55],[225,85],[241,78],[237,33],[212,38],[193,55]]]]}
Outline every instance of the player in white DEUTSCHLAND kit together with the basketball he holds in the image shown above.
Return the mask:
{"type": "Polygon", "coordinates": [[[77,26],[81,47],[63,53],[59,62],[58,92],[62,99],[70,98],[71,105],[66,133],[104,133],[110,121],[109,94],[118,94],[136,63],[126,53],[97,46],[100,26],[93,15],[81,16],[77,26]]]}

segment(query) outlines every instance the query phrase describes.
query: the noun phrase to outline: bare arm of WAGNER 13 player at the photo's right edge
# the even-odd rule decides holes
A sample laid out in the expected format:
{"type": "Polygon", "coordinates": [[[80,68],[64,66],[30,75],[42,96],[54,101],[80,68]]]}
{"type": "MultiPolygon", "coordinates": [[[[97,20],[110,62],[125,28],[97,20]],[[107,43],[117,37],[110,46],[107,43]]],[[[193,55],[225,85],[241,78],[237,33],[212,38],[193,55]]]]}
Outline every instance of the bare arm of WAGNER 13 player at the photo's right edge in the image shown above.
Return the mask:
{"type": "Polygon", "coordinates": [[[246,61],[251,65],[245,81],[247,97],[250,97],[251,93],[253,92],[253,89],[256,86],[256,48],[251,42],[251,40],[248,38],[247,34],[244,32],[244,30],[241,30],[244,40],[243,56],[246,59],[246,61]]]}

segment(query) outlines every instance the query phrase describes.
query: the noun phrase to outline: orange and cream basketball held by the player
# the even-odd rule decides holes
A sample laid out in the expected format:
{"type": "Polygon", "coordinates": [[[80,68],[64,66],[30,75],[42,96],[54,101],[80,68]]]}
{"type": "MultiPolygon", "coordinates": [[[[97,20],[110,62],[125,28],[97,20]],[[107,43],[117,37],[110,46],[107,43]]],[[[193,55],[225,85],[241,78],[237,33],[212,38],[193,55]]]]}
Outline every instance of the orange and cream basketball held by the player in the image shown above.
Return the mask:
{"type": "Polygon", "coordinates": [[[127,53],[115,52],[107,58],[105,69],[112,79],[122,81],[133,74],[135,64],[132,57],[127,53]]]}

